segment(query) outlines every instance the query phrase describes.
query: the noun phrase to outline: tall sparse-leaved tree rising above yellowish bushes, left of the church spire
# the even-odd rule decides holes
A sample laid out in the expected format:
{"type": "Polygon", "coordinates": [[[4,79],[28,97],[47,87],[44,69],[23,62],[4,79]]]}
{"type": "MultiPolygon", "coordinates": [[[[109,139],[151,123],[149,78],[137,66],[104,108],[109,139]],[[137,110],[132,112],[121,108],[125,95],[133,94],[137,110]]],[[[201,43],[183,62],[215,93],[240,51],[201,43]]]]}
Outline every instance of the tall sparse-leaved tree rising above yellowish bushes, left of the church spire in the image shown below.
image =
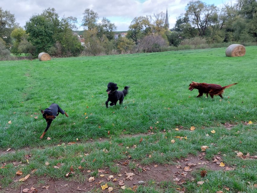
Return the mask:
{"type": "Polygon", "coordinates": [[[98,13],[87,8],[85,9],[83,15],[82,26],[84,26],[85,29],[91,30],[97,26],[98,13]]]}

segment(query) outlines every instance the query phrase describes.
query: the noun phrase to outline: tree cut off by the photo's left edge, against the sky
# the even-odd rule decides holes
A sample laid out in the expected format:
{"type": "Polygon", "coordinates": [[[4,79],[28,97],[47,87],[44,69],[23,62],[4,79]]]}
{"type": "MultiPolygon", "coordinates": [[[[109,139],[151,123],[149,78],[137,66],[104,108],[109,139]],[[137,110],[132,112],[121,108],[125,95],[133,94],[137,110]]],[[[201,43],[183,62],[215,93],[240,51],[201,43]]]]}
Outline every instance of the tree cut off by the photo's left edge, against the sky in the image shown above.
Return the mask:
{"type": "Polygon", "coordinates": [[[6,47],[10,48],[12,44],[11,32],[18,28],[19,24],[15,22],[14,14],[10,11],[4,11],[0,7],[0,38],[5,41],[6,47]]]}

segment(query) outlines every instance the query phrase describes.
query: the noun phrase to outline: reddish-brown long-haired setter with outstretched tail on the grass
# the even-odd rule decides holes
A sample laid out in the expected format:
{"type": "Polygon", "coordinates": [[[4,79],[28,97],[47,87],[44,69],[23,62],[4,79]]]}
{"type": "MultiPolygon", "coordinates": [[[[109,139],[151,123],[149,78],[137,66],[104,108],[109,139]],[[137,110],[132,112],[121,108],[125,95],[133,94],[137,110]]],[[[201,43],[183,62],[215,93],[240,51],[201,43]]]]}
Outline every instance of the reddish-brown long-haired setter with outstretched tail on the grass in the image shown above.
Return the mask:
{"type": "Polygon", "coordinates": [[[225,87],[222,87],[219,84],[207,84],[207,83],[198,83],[198,82],[192,81],[192,83],[189,84],[188,89],[190,91],[197,89],[199,91],[199,94],[197,97],[203,96],[203,93],[206,93],[206,96],[208,97],[208,94],[210,94],[212,99],[214,95],[219,95],[223,99],[223,96],[222,96],[223,90],[235,84],[237,83],[229,84],[225,87]]]}

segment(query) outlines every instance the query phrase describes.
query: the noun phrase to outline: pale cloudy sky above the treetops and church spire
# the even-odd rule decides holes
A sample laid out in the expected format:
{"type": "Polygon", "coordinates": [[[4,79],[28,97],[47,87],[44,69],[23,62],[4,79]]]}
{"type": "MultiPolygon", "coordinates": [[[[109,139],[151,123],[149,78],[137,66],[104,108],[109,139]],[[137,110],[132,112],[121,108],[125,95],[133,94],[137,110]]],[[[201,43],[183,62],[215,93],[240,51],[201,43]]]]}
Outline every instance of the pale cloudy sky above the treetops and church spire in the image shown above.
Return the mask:
{"type": "MultiPolygon", "coordinates": [[[[195,1],[195,0],[194,0],[195,1]]],[[[33,14],[41,14],[44,9],[55,8],[61,17],[73,16],[78,19],[79,30],[83,12],[90,8],[98,13],[99,21],[103,17],[117,26],[117,31],[127,31],[131,21],[138,16],[164,12],[168,8],[170,28],[173,28],[179,15],[185,13],[190,0],[1,0],[0,7],[15,15],[16,21],[24,27],[33,14]]],[[[221,7],[231,0],[204,0],[207,4],[221,7]]]]}

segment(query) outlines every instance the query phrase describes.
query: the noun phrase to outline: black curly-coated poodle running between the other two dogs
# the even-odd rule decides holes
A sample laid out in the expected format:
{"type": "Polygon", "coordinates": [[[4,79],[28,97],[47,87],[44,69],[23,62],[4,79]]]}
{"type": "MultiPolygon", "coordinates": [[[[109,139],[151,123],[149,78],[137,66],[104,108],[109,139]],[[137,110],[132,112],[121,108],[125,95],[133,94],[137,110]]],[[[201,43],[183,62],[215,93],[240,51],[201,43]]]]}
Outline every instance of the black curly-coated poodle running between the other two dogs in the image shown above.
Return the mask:
{"type": "Polygon", "coordinates": [[[108,99],[105,102],[106,108],[108,108],[108,102],[111,101],[110,106],[116,105],[117,101],[119,100],[119,104],[123,102],[124,96],[128,94],[129,87],[126,86],[122,91],[117,90],[117,84],[113,82],[109,82],[107,85],[106,92],[108,93],[108,99]]]}

